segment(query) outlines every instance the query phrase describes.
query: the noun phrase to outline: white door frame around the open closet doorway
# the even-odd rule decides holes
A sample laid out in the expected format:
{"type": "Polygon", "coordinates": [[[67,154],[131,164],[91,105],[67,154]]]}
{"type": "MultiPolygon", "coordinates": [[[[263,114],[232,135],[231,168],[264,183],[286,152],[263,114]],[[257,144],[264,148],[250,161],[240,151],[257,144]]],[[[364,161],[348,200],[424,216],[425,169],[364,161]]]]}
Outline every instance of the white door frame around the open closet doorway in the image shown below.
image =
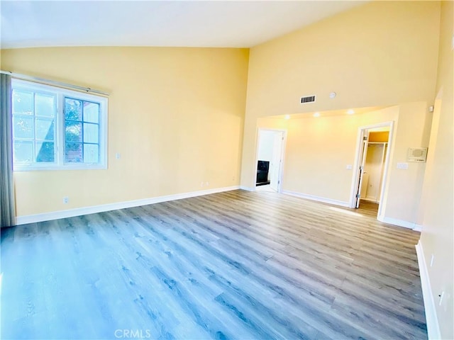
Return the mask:
{"type": "Polygon", "coordinates": [[[384,200],[384,189],[386,187],[387,179],[388,179],[388,171],[389,171],[389,159],[393,142],[393,135],[394,135],[394,120],[377,123],[372,125],[361,126],[358,128],[358,137],[356,140],[356,154],[355,154],[355,164],[353,165],[353,181],[352,186],[350,189],[350,208],[355,208],[356,203],[356,191],[358,189],[358,181],[359,181],[359,172],[360,172],[360,164],[362,162],[362,136],[365,135],[366,130],[373,130],[375,128],[384,128],[389,127],[389,137],[388,137],[388,147],[386,152],[386,159],[384,160],[384,172],[383,172],[383,179],[380,188],[380,200],[378,206],[378,214],[377,216],[380,217],[382,215],[382,201],[384,200]]]}

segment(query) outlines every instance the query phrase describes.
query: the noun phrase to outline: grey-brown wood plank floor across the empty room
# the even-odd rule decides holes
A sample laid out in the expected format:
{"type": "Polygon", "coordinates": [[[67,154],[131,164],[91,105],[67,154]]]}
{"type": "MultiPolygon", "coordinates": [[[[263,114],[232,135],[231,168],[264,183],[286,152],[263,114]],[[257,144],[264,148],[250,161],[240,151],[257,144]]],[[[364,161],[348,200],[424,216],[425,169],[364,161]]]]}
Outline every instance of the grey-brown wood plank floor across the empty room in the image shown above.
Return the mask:
{"type": "Polygon", "coordinates": [[[2,229],[1,339],[427,339],[419,233],[375,216],[230,191],[2,229]]]}

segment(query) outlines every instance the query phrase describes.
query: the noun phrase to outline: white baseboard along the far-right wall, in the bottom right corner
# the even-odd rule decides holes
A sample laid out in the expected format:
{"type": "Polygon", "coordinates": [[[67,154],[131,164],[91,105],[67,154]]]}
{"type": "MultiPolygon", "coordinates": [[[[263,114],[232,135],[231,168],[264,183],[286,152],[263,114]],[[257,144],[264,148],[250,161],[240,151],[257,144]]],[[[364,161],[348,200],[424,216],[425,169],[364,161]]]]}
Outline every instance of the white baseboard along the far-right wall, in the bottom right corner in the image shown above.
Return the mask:
{"type": "Polygon", "coordinates": [[[431,280],[428,276],[426,258],[424,257],[423,245],[421,240],[415,246],[418,256],[419,277],[421,278],[421,288],[423,290],[424,310],[426,311],[426,324],[428,339],[441,339],[440,327],[436,313],[435,301],[433,300],[431,280]]]}

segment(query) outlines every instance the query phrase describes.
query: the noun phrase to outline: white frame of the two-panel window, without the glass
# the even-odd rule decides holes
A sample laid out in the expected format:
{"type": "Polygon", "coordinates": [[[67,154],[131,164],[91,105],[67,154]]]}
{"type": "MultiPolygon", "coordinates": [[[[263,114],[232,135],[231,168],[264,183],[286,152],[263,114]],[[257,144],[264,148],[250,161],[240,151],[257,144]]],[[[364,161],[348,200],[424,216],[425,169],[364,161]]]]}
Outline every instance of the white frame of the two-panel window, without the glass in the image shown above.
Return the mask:
{"type": "MultiPolygon", "coordinates": [[[[57,97],[57,113],[55,116],[55,162],[14,163],[14,171],[39,170],[88,170],[107,169],[107,128],[108,128],[108,99],[104,96],[87,94],[57,86],[34,83],[21,79],[11,79],[12,89],[25,91],[40,91],[45,94],[54,94],[57,97]],[[99,103],[99,162],[98,163],[65,163],[65,97],[99,103]]],[[[11,115],[12,108],[11,108],[11,115]]],[[[83,146],[82,146],[83,147],[83,146]]]]}

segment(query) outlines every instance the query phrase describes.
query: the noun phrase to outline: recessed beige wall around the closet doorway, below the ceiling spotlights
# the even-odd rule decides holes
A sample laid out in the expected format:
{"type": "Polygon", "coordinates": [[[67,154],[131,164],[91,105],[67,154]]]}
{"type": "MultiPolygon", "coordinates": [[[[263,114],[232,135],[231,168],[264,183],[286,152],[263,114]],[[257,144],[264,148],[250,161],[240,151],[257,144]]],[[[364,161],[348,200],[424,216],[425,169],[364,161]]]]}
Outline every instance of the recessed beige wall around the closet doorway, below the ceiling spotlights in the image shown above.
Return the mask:
{"type": "Polygon", "coordinates": [[[401,170],[397,163],[406,162],[409,147],[428,146],[431,114],[425,102],[359,115],[288,120],[284,191],[350,203],[354,171],[346,166],[355,164],[359,129],[390,121],[394,132],[382,214],[409,224],[421,223],[418,210],[425,164],[409,163],[409,169],[401,170]]]}

